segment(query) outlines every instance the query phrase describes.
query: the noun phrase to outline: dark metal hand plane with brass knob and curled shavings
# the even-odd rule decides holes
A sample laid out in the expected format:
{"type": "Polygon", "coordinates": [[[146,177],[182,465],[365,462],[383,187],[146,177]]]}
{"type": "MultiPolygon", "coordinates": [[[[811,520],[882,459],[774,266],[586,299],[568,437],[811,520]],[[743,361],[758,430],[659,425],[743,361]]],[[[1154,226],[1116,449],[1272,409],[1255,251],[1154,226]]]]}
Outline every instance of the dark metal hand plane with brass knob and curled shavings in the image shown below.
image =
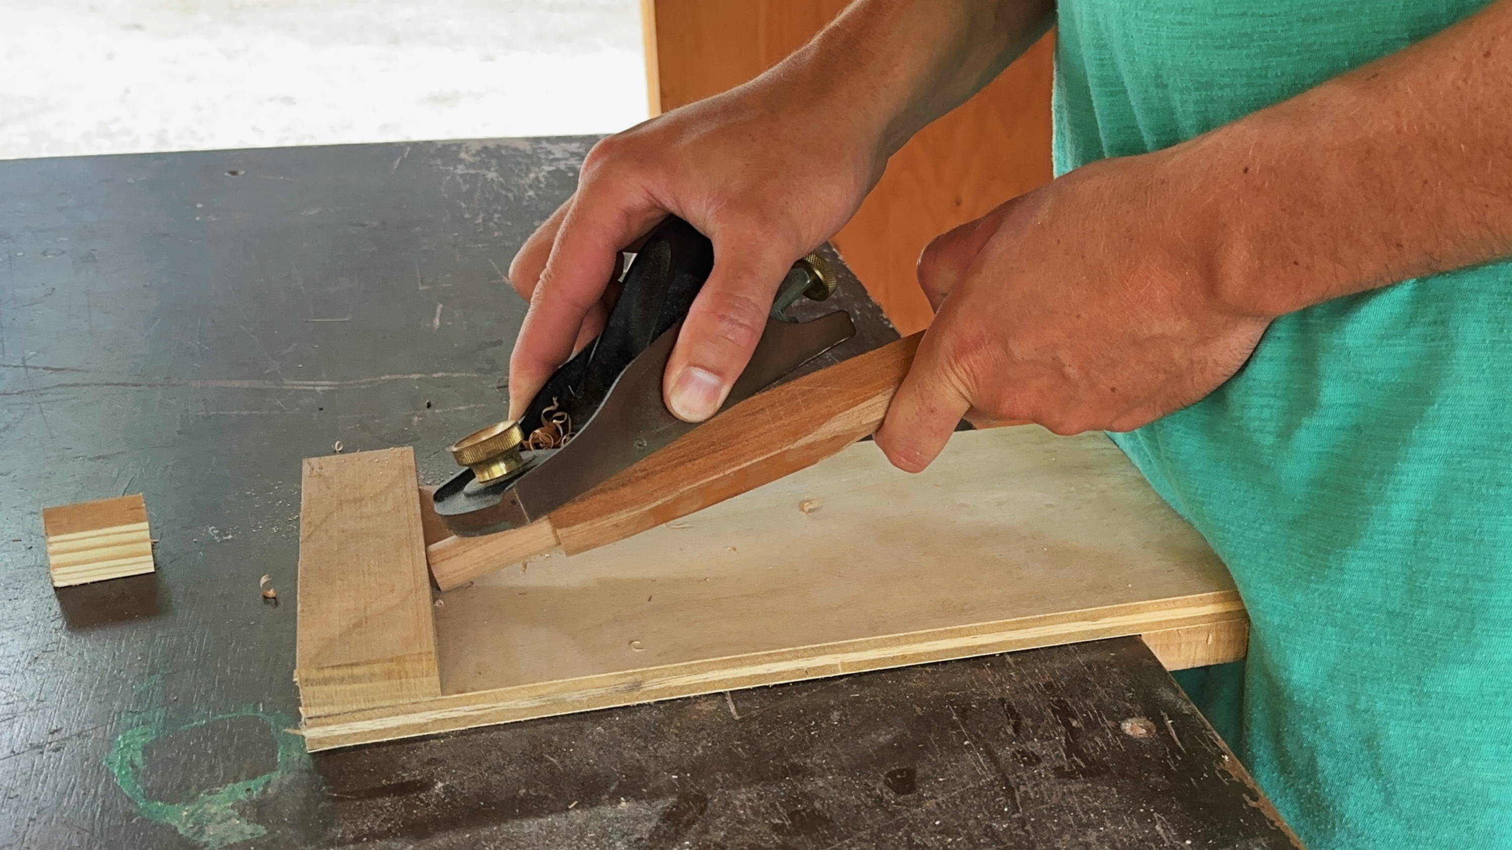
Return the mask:
{"type": "MultiPolygon", "coordinates": [[[[517,422],[488,425],[449,448],[464,469],[432,496],[446,528],[460,537],[523,528],[699,428],[667,410],[661,386],[677,330],[712,268],[714,245],[688,222],[671,216],[652,230],[603,331],[552,374],[517,422]]],[[[800,298],[823,301],[835,286],[816,254],[789,269],[721,411],[856,333],[842,310],[807,322],[788,316],[800,298]]]]}

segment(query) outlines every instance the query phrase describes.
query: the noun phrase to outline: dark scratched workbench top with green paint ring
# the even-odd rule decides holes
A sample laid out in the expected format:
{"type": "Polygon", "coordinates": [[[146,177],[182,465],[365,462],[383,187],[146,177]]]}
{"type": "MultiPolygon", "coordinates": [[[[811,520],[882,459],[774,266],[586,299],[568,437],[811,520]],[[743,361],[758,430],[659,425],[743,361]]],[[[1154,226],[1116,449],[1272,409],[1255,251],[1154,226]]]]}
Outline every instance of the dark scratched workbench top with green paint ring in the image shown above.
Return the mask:
{"type": "Polygon", "coordinates": [[[0,162],[0,847],[1296,847],[1139,638],[307,755],[299,461],[502,417],[591,142],[0,162]],[[54,591],[138,492],[157,572],[54,591]]]}

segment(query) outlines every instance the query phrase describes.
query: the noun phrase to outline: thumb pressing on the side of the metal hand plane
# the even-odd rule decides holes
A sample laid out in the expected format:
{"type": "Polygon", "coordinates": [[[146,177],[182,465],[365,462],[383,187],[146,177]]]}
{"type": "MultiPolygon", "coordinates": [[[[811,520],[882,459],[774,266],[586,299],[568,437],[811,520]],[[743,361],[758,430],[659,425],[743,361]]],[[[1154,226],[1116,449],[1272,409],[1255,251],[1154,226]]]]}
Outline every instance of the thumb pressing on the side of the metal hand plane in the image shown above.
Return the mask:
{"type": "Polygon", "coordinates": [[[759,239],[714,242],[714,271],[667,360],[662,393],[674,416],[702,422],[720,410],[767,328],[794,259],[759,239]]]}

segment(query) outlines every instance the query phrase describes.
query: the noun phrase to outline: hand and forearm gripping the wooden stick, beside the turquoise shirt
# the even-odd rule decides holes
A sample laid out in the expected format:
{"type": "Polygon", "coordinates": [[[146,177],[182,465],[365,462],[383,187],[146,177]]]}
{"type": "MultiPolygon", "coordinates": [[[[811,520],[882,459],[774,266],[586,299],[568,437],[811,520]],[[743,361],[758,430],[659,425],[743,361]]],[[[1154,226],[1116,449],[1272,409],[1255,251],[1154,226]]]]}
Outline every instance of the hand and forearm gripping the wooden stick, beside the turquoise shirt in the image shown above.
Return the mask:
{"type": "Polygon", "coordinates": [[[1512,0],[1291,100],[1102,160],[936,239],[937,309],[877,433],[924,469],[957,417],[1126,431],[1267,324],[1512,253],[1512,0]]]}

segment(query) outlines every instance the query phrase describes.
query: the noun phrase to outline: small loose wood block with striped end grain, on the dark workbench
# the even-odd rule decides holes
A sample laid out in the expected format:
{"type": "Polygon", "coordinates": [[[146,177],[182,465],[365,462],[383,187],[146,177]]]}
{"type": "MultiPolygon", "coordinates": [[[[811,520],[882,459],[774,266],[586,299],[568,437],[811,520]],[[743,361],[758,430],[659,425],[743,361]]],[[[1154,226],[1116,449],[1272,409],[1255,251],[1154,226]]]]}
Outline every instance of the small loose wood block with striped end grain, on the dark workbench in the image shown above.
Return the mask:
{"type": "Polygon", "coordinates": [[[153,535],[141,493],[42,510],[53,587],[153,572],[153,535]]]}

